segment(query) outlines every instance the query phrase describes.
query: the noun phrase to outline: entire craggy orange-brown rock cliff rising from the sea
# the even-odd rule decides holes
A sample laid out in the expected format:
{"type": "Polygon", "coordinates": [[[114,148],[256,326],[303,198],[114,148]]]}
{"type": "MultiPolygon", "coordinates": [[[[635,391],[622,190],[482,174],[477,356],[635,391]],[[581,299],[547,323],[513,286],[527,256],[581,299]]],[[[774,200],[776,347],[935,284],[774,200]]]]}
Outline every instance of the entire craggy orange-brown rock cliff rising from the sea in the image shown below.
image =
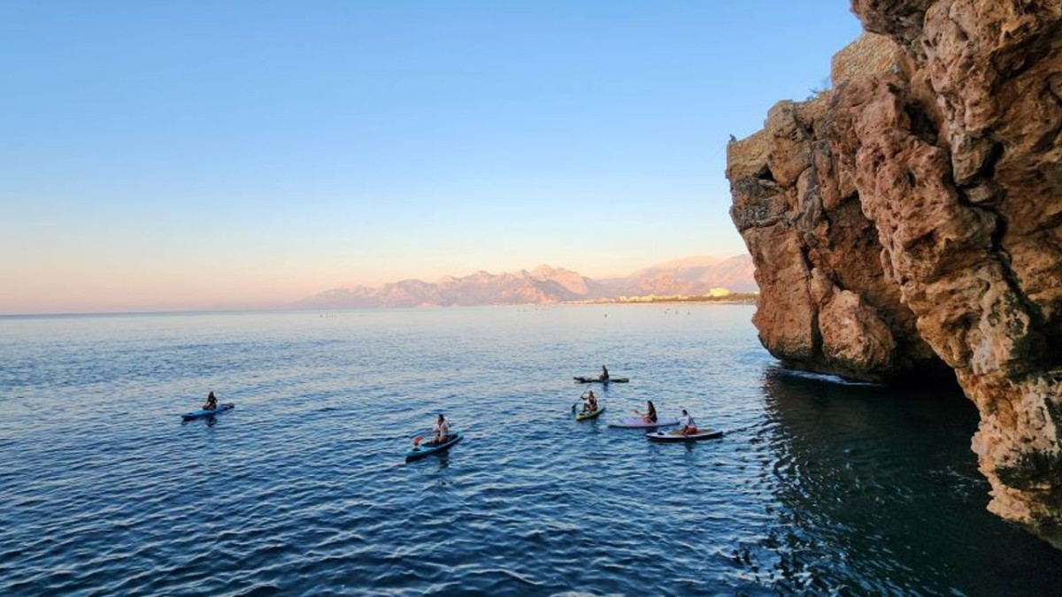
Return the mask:
{"type": "Polygon", "coordinates": [[[855,378],[953,371],[990,510],[1062,546],[1062,2],[853,11],[833,89],[727,150],[760,340],[855,378]]]}

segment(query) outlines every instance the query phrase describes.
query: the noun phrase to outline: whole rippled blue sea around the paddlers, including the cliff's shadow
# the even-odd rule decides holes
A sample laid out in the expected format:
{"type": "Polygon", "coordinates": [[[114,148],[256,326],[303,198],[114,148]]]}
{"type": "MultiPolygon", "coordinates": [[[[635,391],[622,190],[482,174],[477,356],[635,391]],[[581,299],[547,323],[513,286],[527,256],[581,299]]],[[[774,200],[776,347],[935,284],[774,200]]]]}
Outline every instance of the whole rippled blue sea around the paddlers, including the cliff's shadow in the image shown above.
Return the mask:
{"type": "Polygon", "coordinates": [[[786,373],[751,315],[0,319],[0,594],[1058,594],[964,398],[786,373]],[[576,423],[601,363],[631,383],[576,423]],[[646,399],[729,433],[606,427],[646,399]],[[466,439],[405,463],[438,412],[466,439]]]}

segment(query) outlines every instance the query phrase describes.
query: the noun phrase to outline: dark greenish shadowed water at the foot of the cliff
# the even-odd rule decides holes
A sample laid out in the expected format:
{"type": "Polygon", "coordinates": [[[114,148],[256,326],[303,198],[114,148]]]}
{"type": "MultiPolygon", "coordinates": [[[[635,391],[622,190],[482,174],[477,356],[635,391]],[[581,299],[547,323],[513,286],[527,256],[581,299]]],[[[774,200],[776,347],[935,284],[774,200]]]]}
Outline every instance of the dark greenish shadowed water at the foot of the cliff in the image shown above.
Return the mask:
{"type": "Polygon", "coordinates": [[[765,371],[761,387],[766,416],[751,441],[777,511],[764,541],[741,555],[761,581],[967,595],[1039,594],[1057,581],[1059,553],[986,510],[991,488],[970,449],[977,409],[958,388],[852,383],[781,366],[765,371]],[[975,574],[999,568],[999,553],[1013,574],[975,574]]]}

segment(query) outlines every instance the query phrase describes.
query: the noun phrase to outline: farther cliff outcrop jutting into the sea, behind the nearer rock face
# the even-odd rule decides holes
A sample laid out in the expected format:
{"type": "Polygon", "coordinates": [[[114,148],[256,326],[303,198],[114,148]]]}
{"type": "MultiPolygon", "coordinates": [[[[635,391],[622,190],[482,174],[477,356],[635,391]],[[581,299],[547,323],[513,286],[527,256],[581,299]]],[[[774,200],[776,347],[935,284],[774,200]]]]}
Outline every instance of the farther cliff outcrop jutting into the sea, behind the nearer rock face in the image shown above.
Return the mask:
{"type": "Polygon", "coordinates": [[[803,369],[878,381],[933,372],[940,359],[829,143],[834,100],[781,102],[764,131],[729,148],[731,216],[760,289],[753,322],[771,354],[803,369]]]}

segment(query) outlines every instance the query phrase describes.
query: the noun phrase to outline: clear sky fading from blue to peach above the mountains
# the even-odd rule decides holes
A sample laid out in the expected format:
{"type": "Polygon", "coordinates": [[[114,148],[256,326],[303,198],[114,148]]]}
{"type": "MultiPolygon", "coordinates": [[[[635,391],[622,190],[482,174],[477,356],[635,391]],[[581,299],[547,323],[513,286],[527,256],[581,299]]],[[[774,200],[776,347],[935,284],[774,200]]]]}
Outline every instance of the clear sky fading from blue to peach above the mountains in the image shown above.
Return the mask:
{"type": "Polygon", "coordinates": [[[744,245],[731,134],[847,2],[0,2],[0,313],[624,275],[744,245]]]}

